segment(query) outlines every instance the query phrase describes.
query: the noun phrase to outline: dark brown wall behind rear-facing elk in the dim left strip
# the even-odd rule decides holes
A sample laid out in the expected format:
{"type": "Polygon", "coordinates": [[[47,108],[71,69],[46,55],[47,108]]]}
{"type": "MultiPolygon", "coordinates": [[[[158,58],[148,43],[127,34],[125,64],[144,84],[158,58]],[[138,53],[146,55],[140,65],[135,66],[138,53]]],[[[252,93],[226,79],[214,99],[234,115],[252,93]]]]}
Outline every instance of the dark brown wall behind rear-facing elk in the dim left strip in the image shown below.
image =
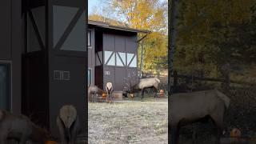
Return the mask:
{"type": "Polygon", "coordinates": [[[86,58],[55,55],[51,62],[50,76],[50,130],[58,134],[56,118],[63,105],[71,104],[78,110],[82,134],[86,133],[86,58]],[[54,76],[54,70],[68,72],[69,78],[54,76]]]}

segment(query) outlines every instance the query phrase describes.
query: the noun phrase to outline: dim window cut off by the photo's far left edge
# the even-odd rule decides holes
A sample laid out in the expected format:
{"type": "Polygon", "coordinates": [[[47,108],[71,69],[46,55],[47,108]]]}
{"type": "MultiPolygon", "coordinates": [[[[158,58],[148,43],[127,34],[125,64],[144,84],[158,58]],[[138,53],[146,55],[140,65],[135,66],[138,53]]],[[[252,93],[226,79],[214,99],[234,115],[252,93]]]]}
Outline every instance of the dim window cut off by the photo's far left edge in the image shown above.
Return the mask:
{"type": "Polygon", "coordinates": [[[10,65],[0,63],[0,110],[10,110],[10,65]]]}

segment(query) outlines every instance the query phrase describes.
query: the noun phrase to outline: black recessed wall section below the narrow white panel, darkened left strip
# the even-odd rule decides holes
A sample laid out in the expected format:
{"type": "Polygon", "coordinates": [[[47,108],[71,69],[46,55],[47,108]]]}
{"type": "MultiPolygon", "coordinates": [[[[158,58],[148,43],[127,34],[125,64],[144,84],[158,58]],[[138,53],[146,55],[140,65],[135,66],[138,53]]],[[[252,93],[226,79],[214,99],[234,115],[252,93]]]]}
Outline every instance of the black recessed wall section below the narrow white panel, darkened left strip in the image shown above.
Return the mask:
{"type": "Polygon", "coordinates": [[[22,114],[39,126],[49,126],[46,66],[42,51],[22,55],[22,114]]]}

